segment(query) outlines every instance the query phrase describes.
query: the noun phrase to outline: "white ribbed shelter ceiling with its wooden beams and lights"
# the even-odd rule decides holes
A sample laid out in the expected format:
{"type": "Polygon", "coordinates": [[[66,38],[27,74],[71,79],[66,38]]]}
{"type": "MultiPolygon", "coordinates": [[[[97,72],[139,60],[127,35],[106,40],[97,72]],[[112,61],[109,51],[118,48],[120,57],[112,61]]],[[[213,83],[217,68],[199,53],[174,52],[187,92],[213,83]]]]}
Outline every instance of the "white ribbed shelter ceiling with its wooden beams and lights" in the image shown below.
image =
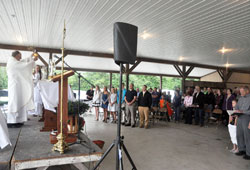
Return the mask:
{"type": "Polygon", "coordinates": [[[127,82],[129,74],[180,77],[184,88],[186,78],[227,83],[237,74],[244,81],[231,84],[250,83],[248,1],[2,1],[0,8],[1,66],[13,50],[37,50],[47,67],[60,56],[65,20],[65,61],[79,71],[118,73],[119,21],[139,28],[137,61],[124,67],[127,82]]]}

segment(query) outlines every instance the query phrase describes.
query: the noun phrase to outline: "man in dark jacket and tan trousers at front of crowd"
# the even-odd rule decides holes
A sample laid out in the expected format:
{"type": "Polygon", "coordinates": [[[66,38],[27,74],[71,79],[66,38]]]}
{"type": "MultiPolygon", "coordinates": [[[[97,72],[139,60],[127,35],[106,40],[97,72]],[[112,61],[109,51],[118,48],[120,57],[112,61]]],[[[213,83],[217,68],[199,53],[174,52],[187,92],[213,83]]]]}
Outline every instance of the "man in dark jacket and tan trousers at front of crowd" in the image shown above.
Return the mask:
{"type": "Polygon", "coordinates": [[[148,128],[149,122],[149,110],[152,104],[152,96],[147,91],[147,86],[144,85],[142,87],[142,92],[139,94],[138,97],[138,109],[140,114],[140,128],[143,128],[144,120],[145,120],[145,129],[148,128]]]}

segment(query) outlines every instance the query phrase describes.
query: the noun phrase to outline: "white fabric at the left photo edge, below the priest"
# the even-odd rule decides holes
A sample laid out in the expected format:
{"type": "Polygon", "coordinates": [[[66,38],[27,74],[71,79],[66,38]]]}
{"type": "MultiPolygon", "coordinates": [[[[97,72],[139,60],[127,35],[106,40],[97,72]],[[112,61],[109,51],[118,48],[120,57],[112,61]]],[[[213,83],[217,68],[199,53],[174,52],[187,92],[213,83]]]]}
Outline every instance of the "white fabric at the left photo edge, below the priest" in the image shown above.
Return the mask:
{"type": "Polygon", "coordinates": [[[3,149],[8,145],[11,145],[8,128],[6,124],[6,119],[0,109],[0,149],[3,149]]]}

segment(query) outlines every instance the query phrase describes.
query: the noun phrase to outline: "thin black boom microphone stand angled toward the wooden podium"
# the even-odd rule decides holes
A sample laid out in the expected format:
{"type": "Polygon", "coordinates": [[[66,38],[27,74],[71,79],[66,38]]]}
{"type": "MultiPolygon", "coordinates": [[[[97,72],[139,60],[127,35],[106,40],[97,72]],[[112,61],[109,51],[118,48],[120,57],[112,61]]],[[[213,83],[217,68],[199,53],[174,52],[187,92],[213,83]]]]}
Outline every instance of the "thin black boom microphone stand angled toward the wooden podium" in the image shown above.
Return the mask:
{"type": "MultiPolygon", "coordinates": [[[[59,58],[58,56],[54,55],[55,58],[57,59],[61,59],[59,58]]],[[[77,72],[76,69],[72,68],[70,65],[68,65],[67,62],[64,61],[64,64],[71,70],[74,71],[74,73],[77,74],[78,76],[78,114],[77,114],[77,120],[78,120],[78,130],[77,130],[77,139],[78,141],[76,141],[75,143],[71,143],[69,144],[69,146],[72,146],[72,145],[75,145],[75,144],[80,144],[80,145],[83,145],[85,147],[87,147],[88,149],[90,149],[92,151],[92,148],[86,144],[87,141],[83,140],[81,137],[80,137],[80,103],[81,103],[81,99],[80,99],[80,96],[81,96],[81,78],[83,80],[85,80],[87,83],[89,83],[91,86],[94,86],[91,82],[89,82],[86,78],[84,78],[81,73],[77,72]]],[[[95,152],[95,149],[93,149],[93,152],[95,152]]]]}

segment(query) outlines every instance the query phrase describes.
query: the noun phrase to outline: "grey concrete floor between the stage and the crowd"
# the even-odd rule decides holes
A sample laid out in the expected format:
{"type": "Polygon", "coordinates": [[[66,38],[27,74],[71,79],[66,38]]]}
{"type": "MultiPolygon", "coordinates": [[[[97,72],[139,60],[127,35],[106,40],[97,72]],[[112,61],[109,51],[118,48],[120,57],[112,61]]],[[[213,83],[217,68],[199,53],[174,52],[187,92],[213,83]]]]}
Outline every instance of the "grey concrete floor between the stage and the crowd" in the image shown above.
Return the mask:
{"type": "MultiPolygon", "coordinates": [[[[116,137],[116,124],[97,122],[85,115],[86,133],[92,140],[105,141],[106,150],[116,137]]],[[[250,161],[229,152],[232,145],[227,128],[210,125],[200,128],[173,122],[158,122],[150,129],[122,126],[125,145],[138,170],[249,170],[250,161]]],[[[125,157],[125,155],[123,154],[125,157]]],[[[54,167],[51,169],[74,169],[54,167]]],[[[115,149],[100,170],[115,169],[115,149]]],[[[131,170],[127,158],[124,169],[131,170]]]]}

